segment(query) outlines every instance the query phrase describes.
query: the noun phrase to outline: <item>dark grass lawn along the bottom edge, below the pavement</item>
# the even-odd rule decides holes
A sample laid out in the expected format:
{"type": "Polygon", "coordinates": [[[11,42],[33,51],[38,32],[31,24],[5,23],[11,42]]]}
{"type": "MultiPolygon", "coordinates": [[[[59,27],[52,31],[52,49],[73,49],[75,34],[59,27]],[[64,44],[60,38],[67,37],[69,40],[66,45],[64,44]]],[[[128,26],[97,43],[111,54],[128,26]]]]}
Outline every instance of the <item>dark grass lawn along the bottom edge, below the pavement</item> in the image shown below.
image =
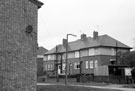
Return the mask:
{"type": "Polygon", "coordinates": [[[37,86],[37,91],[121,91],[121,90],[97,89],[97,88],[64,86],[64,85],[46,85],[46,86],[37,86]]]}

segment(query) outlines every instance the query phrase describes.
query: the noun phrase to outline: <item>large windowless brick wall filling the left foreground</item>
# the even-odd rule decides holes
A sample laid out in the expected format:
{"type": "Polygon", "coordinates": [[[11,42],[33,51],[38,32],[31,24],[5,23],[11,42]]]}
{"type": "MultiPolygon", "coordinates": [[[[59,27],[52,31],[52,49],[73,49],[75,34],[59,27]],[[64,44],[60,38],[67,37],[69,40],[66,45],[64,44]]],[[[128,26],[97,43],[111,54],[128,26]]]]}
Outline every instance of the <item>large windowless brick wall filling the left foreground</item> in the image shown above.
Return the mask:
{"type": "Polygon", "coordinates": [[[0,91],[36,91],[37,6],[0,0],[0,12],[0,91]]]}

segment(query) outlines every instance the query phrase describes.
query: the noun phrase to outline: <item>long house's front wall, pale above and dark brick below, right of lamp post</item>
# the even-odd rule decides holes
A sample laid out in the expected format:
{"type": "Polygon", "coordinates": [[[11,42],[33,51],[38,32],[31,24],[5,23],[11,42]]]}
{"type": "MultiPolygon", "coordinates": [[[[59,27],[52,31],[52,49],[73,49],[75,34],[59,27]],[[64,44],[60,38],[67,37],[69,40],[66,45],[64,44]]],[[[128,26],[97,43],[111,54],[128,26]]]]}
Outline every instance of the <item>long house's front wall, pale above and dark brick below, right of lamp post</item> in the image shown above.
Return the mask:
{"type": "MultiPolygon", "coordinates": [[[[118,49],[118,51],[127,51],[127,49],[118,49]]],[[[93,67],[95,67],[95,61],[98,62],[98,66],[109,65],[111,64],[110,59],[115,59],[116,49],[108,47],[98,47],[98,48],[89,48],[82,49],[80,51],[68,52],[68,73],[70,74],[79,74],[80,69],[75,68],[75,63],[79,64],[82,61],[82,73],[83,74],[94,74],[94,68],[90,68],[90,62],[93,61],[93,67]],[[78,57],[78,53],[79,56],[78,57]],[[86,68],[86,61],[88,61],[88,69],[86,68]],[[71,64],[71,66],[69,66],[71,64]],[[70,69],[69,69],[70,68],[70,69]]],[[[62,62],[65,64],[66,54],[62,54],[62,62]]],[[[60,58],[59,58],[60,59],[60,58]]],[[[50,60],[53,61],[53,60],[50,60]]],[[[47,62],[46,62],[47,63],[47,62]]],[[[65,71],[63,71],[64,73],[65,71]]]]}

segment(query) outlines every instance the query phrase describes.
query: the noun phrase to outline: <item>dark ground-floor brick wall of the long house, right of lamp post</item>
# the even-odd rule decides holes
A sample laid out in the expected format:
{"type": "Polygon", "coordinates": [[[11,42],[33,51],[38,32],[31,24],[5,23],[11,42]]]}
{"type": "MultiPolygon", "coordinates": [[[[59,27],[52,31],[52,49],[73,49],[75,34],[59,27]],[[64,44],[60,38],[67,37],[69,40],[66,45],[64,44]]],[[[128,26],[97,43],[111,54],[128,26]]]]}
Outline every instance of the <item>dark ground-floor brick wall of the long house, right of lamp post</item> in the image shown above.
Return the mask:
{"type": "MultiPolygon", "coordinates": [[[[75,63],[80,63],[82,61],[82,74],[94,74],[94,69],[97,69],[95,67],[95,61],[97,61],[98,66],[103,65],[109,65],[110,59],[114,59],[115,56],[109,56],[109,55],[97,55],[97,56],[85,56],[82,58],[72,58],[68,59],[68,73],[69,73],[69,64],[71,63],[72,66],[70,66],[70,74],[80,74],[80,69],[75,69],[75,63]],[[88,68],[86,68],[86,61],[88,61],[88,68]],[[90,68],[90,62],[93,61],[93,68],[90,68]]],[[[64,72],[64,71],[63,71],[64,72]]]]}

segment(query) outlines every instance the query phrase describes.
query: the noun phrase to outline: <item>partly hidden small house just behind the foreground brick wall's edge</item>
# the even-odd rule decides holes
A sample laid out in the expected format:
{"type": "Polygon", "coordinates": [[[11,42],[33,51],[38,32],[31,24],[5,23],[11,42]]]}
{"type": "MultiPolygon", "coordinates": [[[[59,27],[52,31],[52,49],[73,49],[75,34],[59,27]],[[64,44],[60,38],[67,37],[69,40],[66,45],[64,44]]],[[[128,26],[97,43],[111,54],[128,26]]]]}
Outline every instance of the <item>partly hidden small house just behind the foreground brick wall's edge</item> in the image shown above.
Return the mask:
{"type": "Polygon", "coordinates": [[[43,73],[43,59],[44,59],[44,54],[48,50],[45,49],[44,47],[38,47],[37,51],[37,76],[42,76],[43,73]]]}

